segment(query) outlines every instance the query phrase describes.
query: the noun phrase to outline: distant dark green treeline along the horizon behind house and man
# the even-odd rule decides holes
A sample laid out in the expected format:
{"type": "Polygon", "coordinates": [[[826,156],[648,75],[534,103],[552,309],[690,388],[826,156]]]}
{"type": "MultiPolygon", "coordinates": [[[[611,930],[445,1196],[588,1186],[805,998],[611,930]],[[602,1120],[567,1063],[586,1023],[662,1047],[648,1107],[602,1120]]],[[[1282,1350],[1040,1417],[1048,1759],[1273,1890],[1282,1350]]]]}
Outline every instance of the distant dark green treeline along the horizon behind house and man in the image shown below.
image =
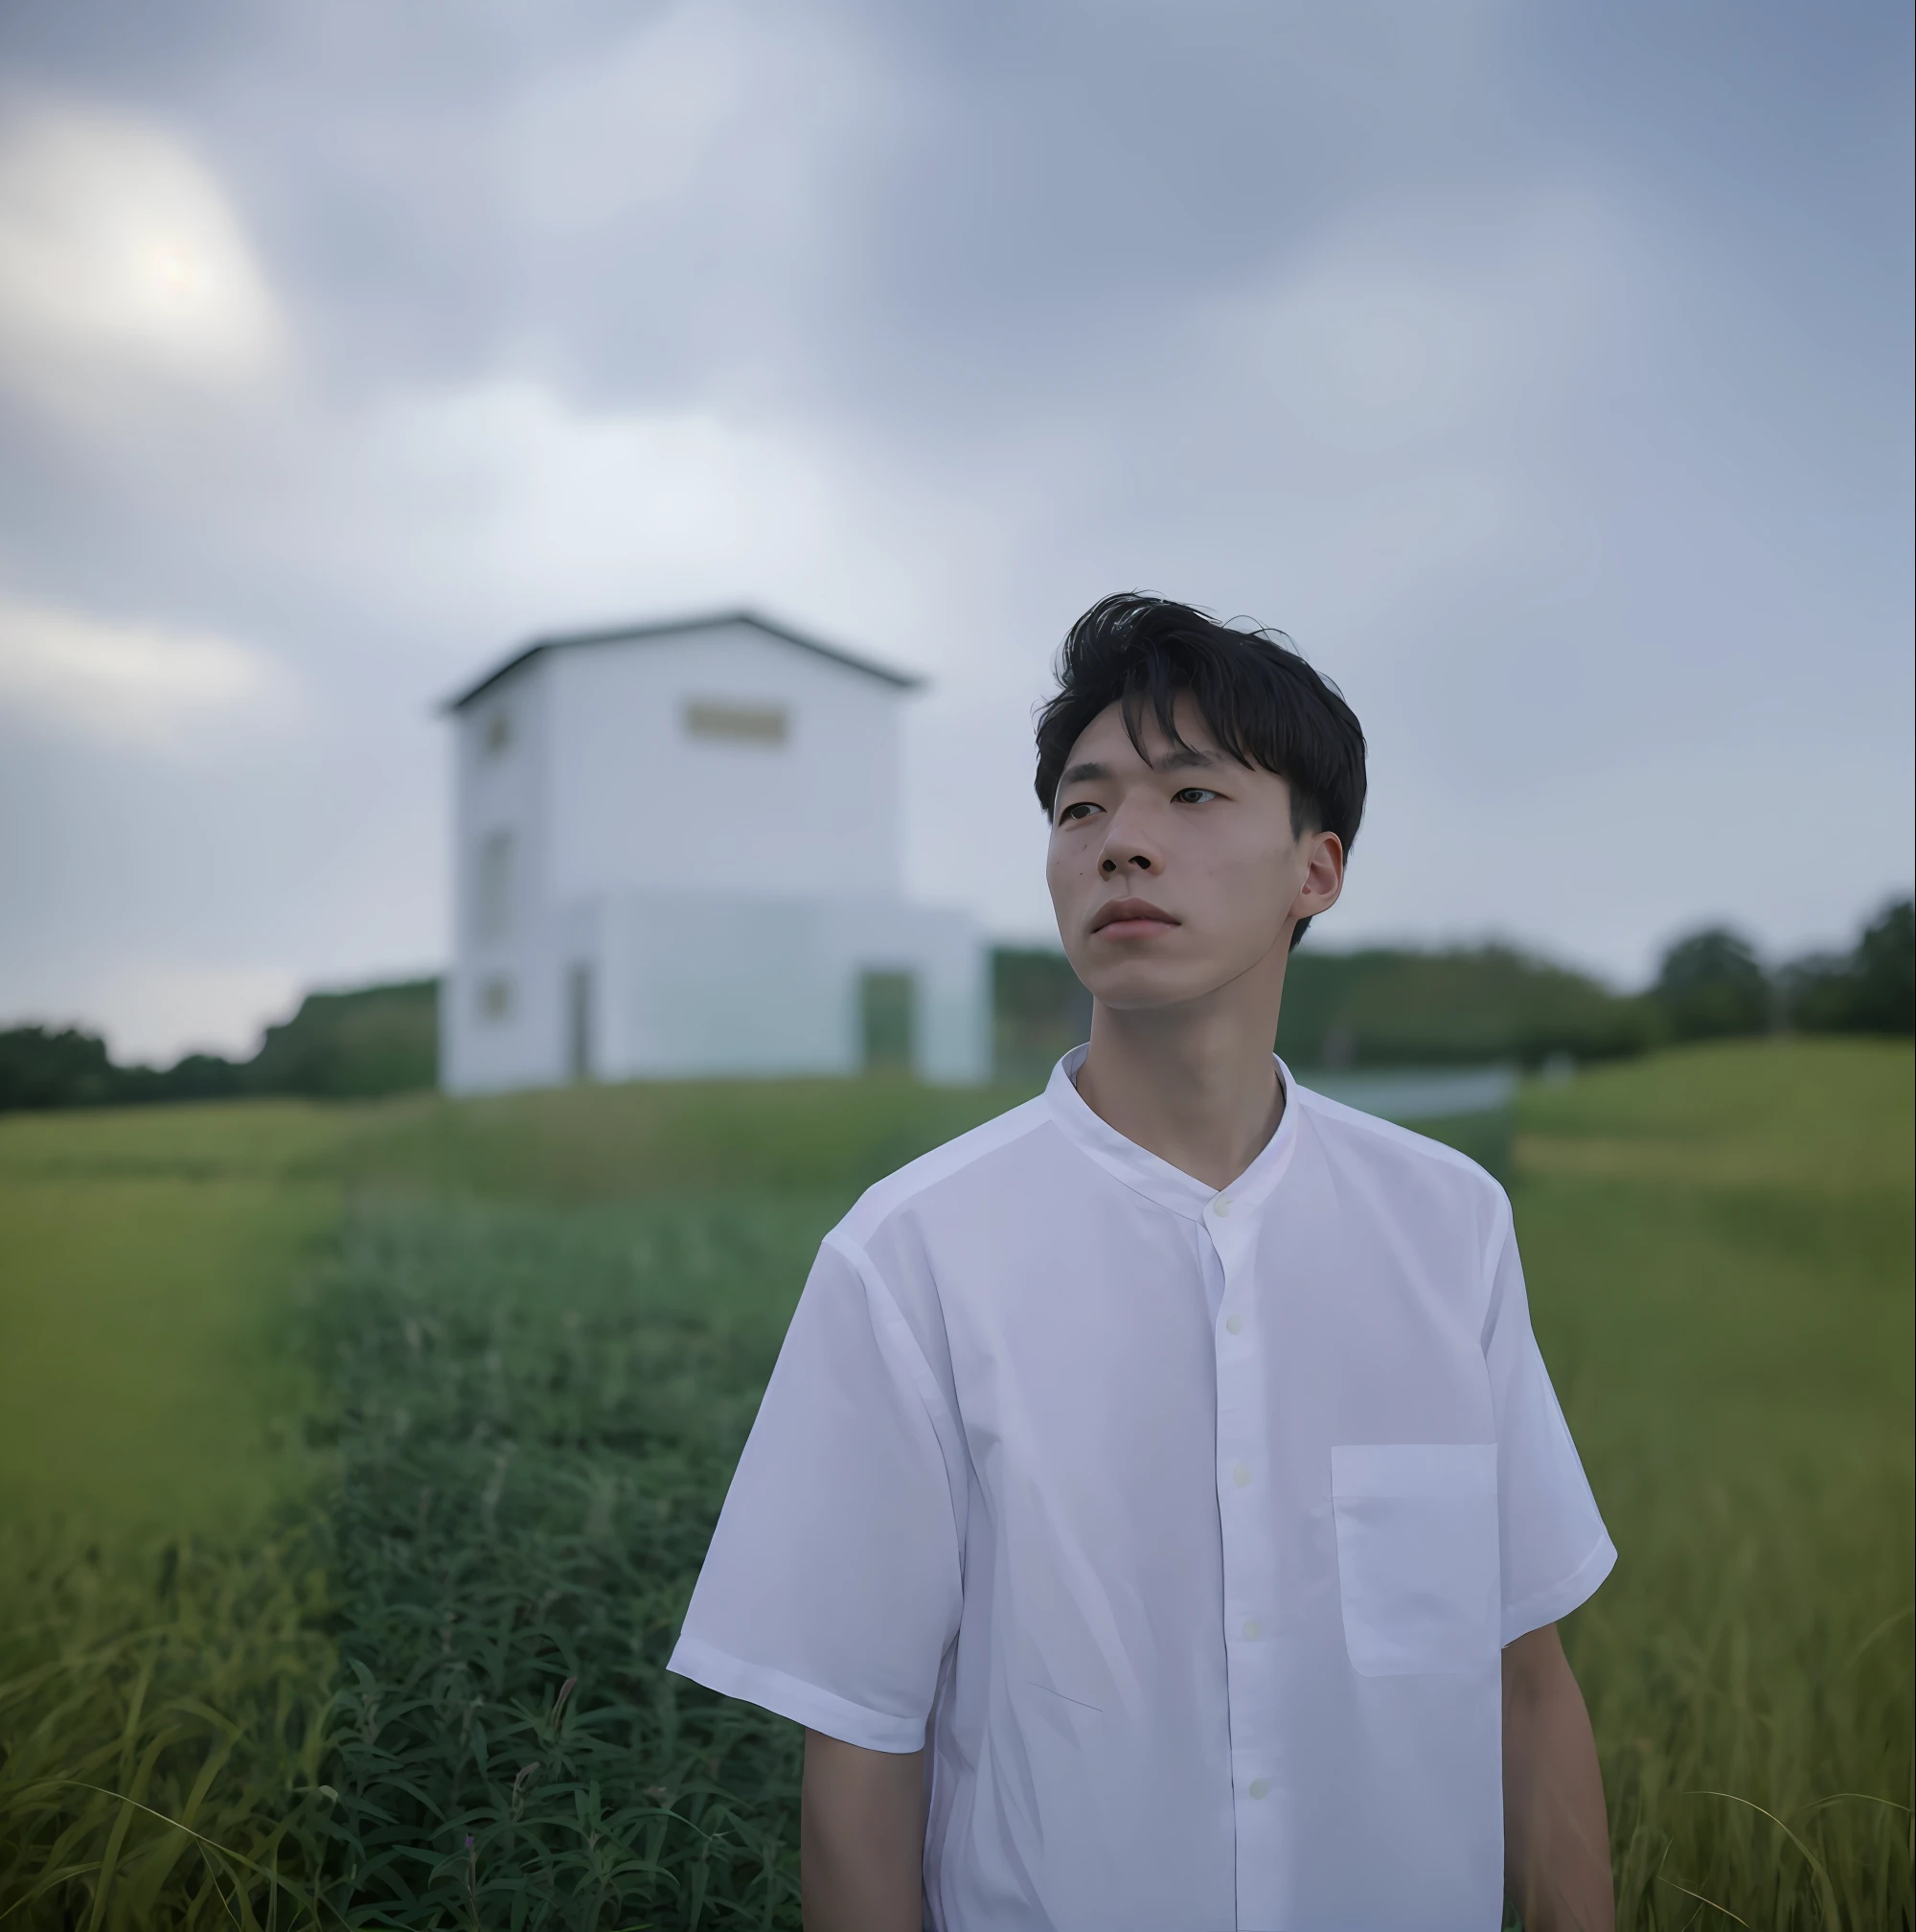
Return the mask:
{"type": "MultiPolygon", "coordinates": [[[[1031,1080],[1085,1037],[1091,997],[1062,952],[991,954],[993,1053],[1031,1080]]],[[[1885,906],[1848,952],[1775,970],[1738,933],[1678,939],[1642,993],[1617,993],[1514,947],[1369,947],[1290,962],[1277,1047],[1296,1066],[1462,1066],[1622,1059],[1682,1039],[1748,1034],[1908,1034],[1916,1016],[1916,910],[1885,906]]],[[[438,981],[309,993],[257,1055],[193,1053],[164,1072],[116,1066],[91,1034],[0,1032],[0,1111],[303,1094],[352,1099],[438,1078],[438,981]]]]}

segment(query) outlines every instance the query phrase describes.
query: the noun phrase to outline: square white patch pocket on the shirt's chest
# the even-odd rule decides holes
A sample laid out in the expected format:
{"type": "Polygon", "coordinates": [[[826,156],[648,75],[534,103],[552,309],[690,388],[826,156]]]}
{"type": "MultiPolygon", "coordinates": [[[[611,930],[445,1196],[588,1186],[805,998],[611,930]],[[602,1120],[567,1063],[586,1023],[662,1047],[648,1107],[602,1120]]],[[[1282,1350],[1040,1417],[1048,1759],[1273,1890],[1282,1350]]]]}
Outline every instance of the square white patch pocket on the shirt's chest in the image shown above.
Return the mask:
{"type": "Polygon", "coordinates": [[[1331,1451],[1344,1646],[1360,1677],[1479,1669],[1497,1658],[1495,1443],[1331,1451]]]}

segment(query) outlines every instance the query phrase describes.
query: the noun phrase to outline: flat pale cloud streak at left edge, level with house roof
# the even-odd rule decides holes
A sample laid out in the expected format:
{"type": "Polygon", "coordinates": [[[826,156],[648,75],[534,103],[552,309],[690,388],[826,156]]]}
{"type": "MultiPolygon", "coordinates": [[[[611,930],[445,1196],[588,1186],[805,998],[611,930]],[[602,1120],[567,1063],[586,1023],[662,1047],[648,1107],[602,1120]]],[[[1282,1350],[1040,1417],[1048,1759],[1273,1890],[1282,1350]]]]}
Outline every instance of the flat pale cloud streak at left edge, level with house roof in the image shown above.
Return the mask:
{"type": "Polygon", "coordinates": [[[62,738],[189,761],[211,732],[276,721],[288,674],[207,630],[0,597],[0,713],[62,738]]]}

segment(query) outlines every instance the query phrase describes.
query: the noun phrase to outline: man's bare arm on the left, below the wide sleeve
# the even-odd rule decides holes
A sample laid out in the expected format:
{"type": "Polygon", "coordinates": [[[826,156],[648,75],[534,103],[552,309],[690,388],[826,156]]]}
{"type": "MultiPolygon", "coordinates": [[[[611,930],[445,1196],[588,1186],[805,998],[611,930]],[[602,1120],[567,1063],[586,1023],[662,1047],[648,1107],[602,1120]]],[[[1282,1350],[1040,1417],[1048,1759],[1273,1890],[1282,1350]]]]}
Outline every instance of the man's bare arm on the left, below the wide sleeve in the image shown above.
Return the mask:
{"type": "Polygon", "coordinates": [[[805,1733],[800,1806],[805,1932],[919,1932],[925,1754],[805,1733]]]}

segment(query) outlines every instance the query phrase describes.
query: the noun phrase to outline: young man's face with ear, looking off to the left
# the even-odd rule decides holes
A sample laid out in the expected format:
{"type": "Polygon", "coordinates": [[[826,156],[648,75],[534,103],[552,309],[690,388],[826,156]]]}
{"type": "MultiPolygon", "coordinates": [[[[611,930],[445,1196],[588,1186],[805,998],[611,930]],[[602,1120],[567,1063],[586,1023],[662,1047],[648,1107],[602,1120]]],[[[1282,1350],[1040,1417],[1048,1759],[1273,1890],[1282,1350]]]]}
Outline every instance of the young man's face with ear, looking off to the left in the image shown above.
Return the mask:
{"type": "Polygon", "coordinates": [[[1116,705],[1072,746],[1051,815],[1045,881],[1078,978],[1113,1009],[1203,999],[1281,976],[1298,920],[1337,902],[1337,833],[1290,831],[1290,786],[1221,752],[1188,697],[1170,744],[1143,755],[1116,705]]]}

